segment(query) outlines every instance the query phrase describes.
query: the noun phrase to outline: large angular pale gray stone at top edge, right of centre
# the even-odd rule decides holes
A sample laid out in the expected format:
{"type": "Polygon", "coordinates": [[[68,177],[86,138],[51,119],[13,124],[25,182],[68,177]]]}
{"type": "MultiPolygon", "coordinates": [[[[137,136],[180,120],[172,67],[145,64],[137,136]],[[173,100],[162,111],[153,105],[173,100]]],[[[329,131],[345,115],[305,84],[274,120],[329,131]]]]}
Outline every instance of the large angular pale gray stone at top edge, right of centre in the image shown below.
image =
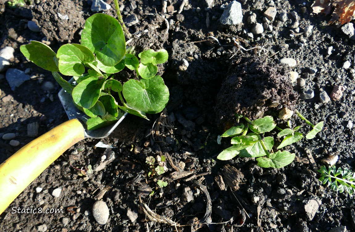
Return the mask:
{"type": "Polygon", "coordinates": [[[241,23],[242,19],[242,6],[239,2],[233,1],[224,8],[223,14],[220,18],[220,22],[224,25],[236,25],[241,23]]]}

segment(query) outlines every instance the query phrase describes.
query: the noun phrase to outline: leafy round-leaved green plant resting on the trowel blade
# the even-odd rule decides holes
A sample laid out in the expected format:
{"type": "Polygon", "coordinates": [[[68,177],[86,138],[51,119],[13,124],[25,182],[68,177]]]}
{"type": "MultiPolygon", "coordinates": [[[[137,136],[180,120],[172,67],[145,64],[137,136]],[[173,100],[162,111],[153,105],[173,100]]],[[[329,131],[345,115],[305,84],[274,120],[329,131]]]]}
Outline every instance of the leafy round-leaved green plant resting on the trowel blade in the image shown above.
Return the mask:
{"type": "Polygon", "coordinates": [[[148,49],[138,54],[138,60],[132,49],[126,51],[122,27],[109,15],[98,13],[86,20],[81,44],[64,44],[55,53],[46,44],[31,41],[20,50],[27,59],[51,71],[72,95],[76,107],[91,117],[88,130],[115,122],[122,111],[148,119],[146,114],[158,113],[168,103],[168,87],[156,75],[157,64],[168,60],[168,52],[148,49]],[[122,85],[116,73],[124,68],[135,70],[135,78],[140,80],[129,79],[122,85]],[[76,83],[64,80],[58,72],[73,76],[76,83]]]}

